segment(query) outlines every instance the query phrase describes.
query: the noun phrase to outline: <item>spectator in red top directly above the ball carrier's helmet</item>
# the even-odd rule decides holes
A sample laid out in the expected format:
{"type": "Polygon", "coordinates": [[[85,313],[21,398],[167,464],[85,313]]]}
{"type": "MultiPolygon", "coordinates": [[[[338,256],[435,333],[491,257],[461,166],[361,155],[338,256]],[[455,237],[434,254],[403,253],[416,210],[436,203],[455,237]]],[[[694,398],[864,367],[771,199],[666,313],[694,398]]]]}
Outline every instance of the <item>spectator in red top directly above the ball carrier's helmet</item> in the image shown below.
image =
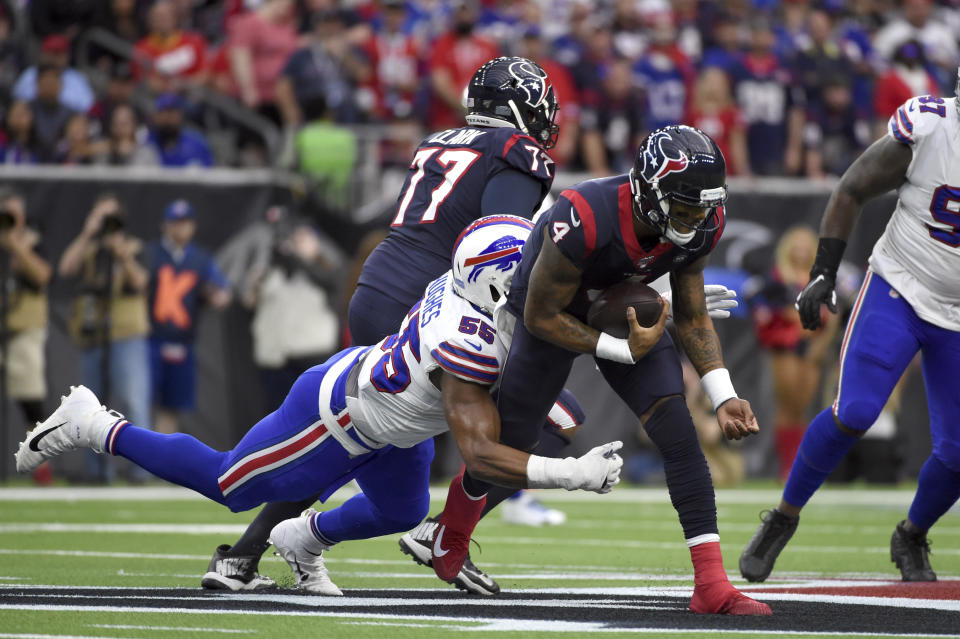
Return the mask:
{"type": "Polygon", "coordinates": [[[727,161],[727,175],[750,175],[746,126],[722,68],[707,67],[700,72],[688,121],[720,147],[727,161]]]}

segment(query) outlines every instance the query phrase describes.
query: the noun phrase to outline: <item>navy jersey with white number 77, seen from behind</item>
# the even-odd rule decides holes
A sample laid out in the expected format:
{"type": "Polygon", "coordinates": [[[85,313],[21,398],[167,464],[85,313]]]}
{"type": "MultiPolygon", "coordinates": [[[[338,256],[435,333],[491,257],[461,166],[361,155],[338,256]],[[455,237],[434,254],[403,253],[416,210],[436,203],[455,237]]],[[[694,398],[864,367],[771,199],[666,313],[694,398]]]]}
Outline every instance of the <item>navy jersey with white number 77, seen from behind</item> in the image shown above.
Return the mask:
{"type": "Polygon", "coordinates": [[[412,306],[427,283],[450,268],[457,236],[483,217],[487,184],[505,171],[529,175],[541,186],[531,210],[493,211],[531,217],[553,183],[553,160],[513,128],[462,127],[420,143],[387,238],[363,265],[359,283],[412,306]]]}

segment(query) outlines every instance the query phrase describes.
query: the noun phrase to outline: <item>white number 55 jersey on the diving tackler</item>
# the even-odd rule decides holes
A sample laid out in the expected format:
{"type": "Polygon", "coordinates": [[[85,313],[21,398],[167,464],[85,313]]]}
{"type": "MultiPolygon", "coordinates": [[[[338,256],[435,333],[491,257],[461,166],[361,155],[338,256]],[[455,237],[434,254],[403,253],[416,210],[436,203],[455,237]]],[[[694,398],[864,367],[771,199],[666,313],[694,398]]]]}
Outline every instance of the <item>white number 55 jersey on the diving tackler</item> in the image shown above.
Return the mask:
{"type": "Polygon", "coordinates": [[[500,376],[506,352],[493,320],[454,293],[452,280],[447,272],[431,282],[400,332],[363,360],[350,413],[380,444],[409,448],[448,429],[434,370],[491,387],[500,376]]]}

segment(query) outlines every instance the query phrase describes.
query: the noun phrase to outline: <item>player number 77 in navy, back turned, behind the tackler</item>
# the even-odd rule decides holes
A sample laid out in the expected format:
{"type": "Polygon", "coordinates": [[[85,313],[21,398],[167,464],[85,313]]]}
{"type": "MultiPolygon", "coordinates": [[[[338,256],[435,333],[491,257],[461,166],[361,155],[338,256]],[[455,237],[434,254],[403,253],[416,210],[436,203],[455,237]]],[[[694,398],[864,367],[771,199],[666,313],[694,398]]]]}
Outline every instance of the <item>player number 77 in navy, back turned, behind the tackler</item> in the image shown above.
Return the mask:
{"type": "MultiPolygon", "coordinates": [[[[500,57],[477,69],[467,87],[467,126],[439,131],[420,143],[390,234],[364,263],[349,308],[354,344],[375,344],[396,330],[424,287],[450,267],[457,236],[471,222],[493,214],[533,216],[553,183],[553,160],[546,150],[557,140],[556,115],[553,87],[537,63],[500,57]]],[[[566,416],[562,426],[583,420],[569,392],[559,402],[566,416]]],[[[541,423],[548,433],[545,442],[553,443],[543,454],[559,452],[569,440],[556,426],[541,423]]],[[[432,455],[432,440],[418,446],[431,448],[432,455]]],[[[217,549],[204,586],[260,587],[265,578],[256,574],[257,561],[269,546],[270,530],[313,501],[267,504],[240,540],[217,549]],[[228,565],[220,560],[230,557],[244,560],[230,564],[242,565],[244,574],[218,578],[216,567],[228,565]]],[[[456,585],[483,594],[499,591],[496,582],[474,570],[467,558],[456,585]]]]}

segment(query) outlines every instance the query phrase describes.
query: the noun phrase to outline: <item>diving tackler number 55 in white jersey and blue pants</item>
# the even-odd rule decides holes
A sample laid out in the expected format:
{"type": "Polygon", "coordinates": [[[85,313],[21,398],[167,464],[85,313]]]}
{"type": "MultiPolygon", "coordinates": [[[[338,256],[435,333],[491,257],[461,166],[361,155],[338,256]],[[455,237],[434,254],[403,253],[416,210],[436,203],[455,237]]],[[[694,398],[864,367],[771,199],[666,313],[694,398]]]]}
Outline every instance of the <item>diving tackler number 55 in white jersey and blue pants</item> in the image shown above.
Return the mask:
{"type": "Polygon", "coordinates": [[[327,574],[324,550],[348,539],[405,532],[427,515],[433,448],[419,444],[448,428],[467,467],[486,481],[609,492],[620,478],[620,442],[577,459],[538,458],[498,442],[490,390],[506,349],[493,311],[531,228],[529,220],[506,215],[468,226],[454,248],[453,269],[430,283],[399,333],[307,370],[280,408],[232,450],[138,428],[77,386],[21,443],[17,470],[29,472],[45,459],[86,447],[126,457],[233,511],[317,494],[324,501],[356,479],[363,492],[343,505],[307,511],[271,532],[297,584],[325,595],[342,593],[327,574]]]}

